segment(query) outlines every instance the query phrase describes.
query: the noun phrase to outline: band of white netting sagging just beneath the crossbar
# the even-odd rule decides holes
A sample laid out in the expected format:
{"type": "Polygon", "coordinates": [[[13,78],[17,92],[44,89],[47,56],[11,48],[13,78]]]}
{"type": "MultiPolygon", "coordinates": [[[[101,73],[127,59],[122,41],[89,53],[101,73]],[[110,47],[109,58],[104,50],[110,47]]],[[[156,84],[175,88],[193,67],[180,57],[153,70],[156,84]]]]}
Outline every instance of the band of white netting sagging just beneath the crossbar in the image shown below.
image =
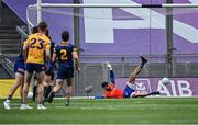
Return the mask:
{"type": "MultiPolygon", "coordinates": [[[[73,8],[74,9],[74,8],[73,8]]],[[[133,19],[134,16],[130,15],[130,12],[141,11],[142,15],[145,18],[155,18],[157,14],[161,13],[163,15],[184,15],[184,14],[195,14],[198,13],[198,8],[80,8],[80,10],[94,10],[106,13],[107,10],[113,10],[113,9],[120,9],[123,11],[129,12],[128,15],[114,15],[113,19],[133,19]],[[172,9],[172,11],[170,11],[172,9]],[[152,13],[155,12],[155,13],[152,13]]],[[[88,18],[88,19],[112,19],[111,15],[105,16],[102,14],[96,15],[85,15],[81,11],[81,13],[74,13],[70,12],[70,9],[68,8],[42,8],[42,13],[51,13],[51,14],[57,14],[57,15],[69,15],[69,16],[79,16],[79,18],[88,18]]],[[[37,9],[36,5],[29,5],[28,8],[28,19],[30,22],[35,25],[37,23],[37,9]]],[[[31,24],[30,24],[31,25],[31,24]]]]}

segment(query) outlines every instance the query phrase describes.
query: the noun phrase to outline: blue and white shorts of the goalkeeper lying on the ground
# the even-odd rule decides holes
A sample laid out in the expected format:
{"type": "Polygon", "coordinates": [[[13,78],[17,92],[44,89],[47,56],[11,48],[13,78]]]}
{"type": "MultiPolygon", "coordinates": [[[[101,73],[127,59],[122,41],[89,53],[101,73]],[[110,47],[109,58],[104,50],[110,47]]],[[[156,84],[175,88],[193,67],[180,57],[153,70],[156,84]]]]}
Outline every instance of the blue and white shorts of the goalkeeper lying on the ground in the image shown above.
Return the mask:
{"type": "Polygon", "coordinates": [[[127,82],[127,86],[123,92],[123,98],[133,98],[134,91],[135,91],[134,86],[131,84],[130,82],[127,82]]]}

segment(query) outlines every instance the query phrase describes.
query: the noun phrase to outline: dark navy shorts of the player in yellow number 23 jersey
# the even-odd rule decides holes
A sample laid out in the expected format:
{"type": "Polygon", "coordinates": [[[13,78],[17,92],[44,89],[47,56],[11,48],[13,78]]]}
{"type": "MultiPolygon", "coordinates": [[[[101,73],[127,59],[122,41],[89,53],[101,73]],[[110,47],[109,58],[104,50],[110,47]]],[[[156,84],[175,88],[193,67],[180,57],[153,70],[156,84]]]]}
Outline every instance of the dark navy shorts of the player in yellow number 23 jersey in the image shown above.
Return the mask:
{"type": "Polygon", "coordinates": [[[31,73],[33,73],[34,71],[35,71],[35,72],[41,72],[41,71],[44,71],[44,70],[45,70],[45,66],[44,66],[44,65],[41,65],[41,64],[28,63],[28,64],[26,64],[26,67],[25,67],[25,70],[26,70],[28,72],[31,72],[31,73]]]}

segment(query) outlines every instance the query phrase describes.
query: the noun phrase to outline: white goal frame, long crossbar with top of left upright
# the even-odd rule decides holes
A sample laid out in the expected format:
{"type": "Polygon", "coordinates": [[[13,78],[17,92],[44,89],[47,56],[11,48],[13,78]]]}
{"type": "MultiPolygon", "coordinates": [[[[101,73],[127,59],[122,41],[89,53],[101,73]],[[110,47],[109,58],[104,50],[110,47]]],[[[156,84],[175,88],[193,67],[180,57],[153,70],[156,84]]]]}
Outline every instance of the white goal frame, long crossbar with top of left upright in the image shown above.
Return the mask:
{"type": "Polygon", "coordinates": [[[26,9],[26,21],[29,25],[33,26],[29,20],[29,8],[36,8],[37,10],[37,23],[42,21],[42,8],[198,8],[198,3],[172,3],[172,4],[72,4],[72,3],[42,3],[42,0],[37,0],[36,4],[31,4],[26,9]]]}

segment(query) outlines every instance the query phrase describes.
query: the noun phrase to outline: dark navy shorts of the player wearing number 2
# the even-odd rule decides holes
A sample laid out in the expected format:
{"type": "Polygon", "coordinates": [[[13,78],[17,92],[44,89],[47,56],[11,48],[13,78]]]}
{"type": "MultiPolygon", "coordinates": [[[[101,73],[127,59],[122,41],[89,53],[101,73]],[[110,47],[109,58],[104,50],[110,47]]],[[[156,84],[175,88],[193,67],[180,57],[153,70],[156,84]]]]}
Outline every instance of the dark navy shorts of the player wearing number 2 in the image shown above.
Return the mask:
{"type": "Polygon", "coordinates": [[[56,79],[67,79],[74,77],[74,67],[58,68],[56,79]]]}

